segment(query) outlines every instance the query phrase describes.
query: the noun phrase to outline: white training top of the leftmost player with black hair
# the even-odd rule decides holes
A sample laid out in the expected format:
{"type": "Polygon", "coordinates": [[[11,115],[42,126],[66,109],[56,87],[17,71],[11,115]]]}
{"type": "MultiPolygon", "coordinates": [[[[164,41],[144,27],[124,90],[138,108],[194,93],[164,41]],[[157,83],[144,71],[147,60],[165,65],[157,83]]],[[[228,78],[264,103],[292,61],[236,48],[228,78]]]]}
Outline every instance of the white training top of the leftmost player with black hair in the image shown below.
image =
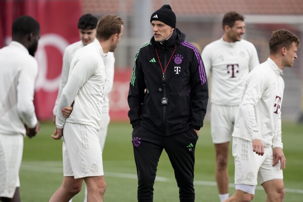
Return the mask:
{"type": "Polygon", "coordinates": [[[0,49],[0,133],[25,136],[37,118],[33,104],[38,63],[19,42],[0,49]]]}

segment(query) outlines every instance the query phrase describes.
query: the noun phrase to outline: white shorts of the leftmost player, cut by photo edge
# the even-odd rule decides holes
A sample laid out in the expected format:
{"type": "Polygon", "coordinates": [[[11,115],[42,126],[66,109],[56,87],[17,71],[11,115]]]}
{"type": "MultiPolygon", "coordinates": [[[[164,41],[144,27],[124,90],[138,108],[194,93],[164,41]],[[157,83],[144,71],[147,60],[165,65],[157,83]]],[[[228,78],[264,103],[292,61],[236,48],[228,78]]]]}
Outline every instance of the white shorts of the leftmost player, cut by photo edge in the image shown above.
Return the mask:
{"type": "Polygon", "coordinates": [[[0,134],[0,197],[13,198],[20,187],[23,135],[0,134]]]}

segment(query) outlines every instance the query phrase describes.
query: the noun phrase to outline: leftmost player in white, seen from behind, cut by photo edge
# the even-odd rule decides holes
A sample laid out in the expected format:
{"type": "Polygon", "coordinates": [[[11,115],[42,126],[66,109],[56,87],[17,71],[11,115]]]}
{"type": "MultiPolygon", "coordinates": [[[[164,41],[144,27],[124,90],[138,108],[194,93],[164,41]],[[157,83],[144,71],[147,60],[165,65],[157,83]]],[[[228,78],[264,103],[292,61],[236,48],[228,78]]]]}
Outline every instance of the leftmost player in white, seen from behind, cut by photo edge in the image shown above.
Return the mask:
{"type": "Polygon", "coordinates": [[[33,105],[39,38],[39,23],[21,16],[13,22],[12,42],[0,49],[0,201],[20,201],[23,138],[39,132],[33,105]]]}

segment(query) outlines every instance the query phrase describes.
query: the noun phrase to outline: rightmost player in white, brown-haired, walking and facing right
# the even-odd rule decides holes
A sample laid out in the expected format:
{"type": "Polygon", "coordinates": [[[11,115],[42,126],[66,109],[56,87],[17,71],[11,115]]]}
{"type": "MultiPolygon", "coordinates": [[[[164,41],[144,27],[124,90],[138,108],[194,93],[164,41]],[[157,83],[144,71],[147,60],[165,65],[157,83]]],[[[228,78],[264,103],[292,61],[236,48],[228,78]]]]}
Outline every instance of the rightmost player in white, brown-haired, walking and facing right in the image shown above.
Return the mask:
{"type": "Polygon", "coordinates": [[[281,134],[284,67],[292,67],[300,40],[280,29],[269,41],[270,55],[245,79],[233,133],[236,192],[226,201],[251,201],[257,181],[267,201],[283,201],[286,159],[281,134]]]}

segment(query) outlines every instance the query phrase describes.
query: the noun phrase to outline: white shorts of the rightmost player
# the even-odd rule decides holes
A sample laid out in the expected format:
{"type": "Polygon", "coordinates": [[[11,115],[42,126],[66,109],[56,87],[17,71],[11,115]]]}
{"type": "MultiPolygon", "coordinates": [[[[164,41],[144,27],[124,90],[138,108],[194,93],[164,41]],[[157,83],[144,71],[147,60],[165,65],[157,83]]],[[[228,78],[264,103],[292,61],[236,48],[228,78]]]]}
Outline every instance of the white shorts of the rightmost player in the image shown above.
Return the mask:
{"type": "Polygon", "coordinates": [[[264,182],[283,179],[280,162],[273,167],[273,149],[264,148],[264,155],[252,151],[252,143],[241,138],[233,138],[233,156],[235,158],[235,184],[257,185],[264,182]]]}

